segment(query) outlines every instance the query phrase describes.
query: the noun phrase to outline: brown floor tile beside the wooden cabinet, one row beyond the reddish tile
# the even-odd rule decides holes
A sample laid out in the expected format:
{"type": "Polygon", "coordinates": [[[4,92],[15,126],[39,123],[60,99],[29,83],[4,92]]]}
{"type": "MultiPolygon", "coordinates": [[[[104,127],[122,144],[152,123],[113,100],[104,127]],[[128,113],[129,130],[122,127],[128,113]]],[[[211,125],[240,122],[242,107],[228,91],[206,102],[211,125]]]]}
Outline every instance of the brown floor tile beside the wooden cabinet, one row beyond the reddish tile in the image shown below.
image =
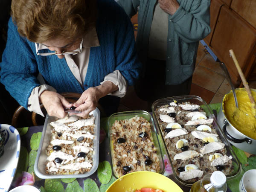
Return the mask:
{"type": "Polygon", "coordinates": [[[212,70],[209,70],[201,65],[195,68],[193,73],[192,83],[199,85],[207,90],[216,93],[221,83],[224,81],[224,77],[212,70]]]}

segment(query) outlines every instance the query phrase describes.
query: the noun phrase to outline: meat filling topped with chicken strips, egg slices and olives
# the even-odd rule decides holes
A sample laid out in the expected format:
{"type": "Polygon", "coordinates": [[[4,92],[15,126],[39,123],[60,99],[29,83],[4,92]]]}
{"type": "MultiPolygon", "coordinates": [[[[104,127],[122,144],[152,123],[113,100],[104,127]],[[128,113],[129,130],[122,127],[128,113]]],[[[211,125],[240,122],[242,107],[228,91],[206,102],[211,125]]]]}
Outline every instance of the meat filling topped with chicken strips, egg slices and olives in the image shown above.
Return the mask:
{"type": "Polygon", "coordinates": [[[232,156],[227,156],[213,119],[199,105],[170,102],[155,108],[160,130],[172,160],[174,172],[181,180],[195,182],[216,170],[230,175],[232,156]]]}

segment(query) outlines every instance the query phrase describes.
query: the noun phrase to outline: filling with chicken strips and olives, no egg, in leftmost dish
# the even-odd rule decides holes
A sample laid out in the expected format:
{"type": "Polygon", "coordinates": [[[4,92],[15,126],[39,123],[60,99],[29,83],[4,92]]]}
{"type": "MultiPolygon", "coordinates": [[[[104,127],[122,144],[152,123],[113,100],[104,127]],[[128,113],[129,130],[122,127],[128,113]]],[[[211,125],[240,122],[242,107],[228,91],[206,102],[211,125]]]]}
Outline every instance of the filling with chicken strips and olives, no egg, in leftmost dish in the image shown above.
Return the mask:
{"type": "Polygon", "coordinates": [[[50,175],[84,174],[93,167],[95,117],[66,116],[50,122],[45,172],[50,175]]]}

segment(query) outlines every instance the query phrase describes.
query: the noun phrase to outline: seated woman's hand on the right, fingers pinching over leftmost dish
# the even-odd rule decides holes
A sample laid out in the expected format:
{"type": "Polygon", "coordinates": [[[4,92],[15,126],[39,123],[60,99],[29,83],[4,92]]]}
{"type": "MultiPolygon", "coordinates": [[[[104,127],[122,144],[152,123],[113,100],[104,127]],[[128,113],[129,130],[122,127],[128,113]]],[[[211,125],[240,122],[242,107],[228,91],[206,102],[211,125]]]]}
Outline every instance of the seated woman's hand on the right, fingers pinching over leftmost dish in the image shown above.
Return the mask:
{"type": "Polygon", "coordinates": [[[97,87],[90,87],[85,90],[80,98],[73,104],[76,111],[82,113],[70,113],[69,115],[77,115],[81,117],[87,116],[91,111],[95,110],[99,99],[102,97],[102,91],[97,87]]]}

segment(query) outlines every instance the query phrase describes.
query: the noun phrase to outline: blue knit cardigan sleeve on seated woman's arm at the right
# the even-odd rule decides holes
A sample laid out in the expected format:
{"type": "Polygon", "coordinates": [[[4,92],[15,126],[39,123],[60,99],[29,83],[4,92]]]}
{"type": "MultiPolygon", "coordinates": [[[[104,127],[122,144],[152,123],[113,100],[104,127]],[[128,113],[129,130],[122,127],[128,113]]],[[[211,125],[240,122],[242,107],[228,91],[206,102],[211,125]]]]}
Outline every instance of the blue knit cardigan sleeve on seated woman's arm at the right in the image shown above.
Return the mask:
{"type": "Polygon", "coordinates": [[[120,9],[119,17],[116,20],[116,68],[128,82],[128,85],[133,85],[134,81],[139,78],[142,64],[137,56],[136,43],[134,38],[134,30],[131,20],[120,9]]]}

